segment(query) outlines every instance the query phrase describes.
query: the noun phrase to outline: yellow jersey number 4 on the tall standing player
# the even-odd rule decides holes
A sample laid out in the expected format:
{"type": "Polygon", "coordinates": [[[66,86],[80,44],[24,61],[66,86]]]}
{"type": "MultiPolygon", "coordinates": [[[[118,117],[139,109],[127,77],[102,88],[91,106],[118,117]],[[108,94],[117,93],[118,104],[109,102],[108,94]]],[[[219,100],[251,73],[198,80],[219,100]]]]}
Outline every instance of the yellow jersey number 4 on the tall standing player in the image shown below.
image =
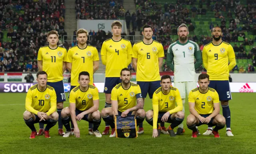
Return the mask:
{"type": "Polygon", "coordinates": [[[120,72],[128,66],[128,55],[132,55],[132,44],[129,40],[112,38],[103,42],[100,55],[107,56],[106,77],[120,77],[120,72]]]}

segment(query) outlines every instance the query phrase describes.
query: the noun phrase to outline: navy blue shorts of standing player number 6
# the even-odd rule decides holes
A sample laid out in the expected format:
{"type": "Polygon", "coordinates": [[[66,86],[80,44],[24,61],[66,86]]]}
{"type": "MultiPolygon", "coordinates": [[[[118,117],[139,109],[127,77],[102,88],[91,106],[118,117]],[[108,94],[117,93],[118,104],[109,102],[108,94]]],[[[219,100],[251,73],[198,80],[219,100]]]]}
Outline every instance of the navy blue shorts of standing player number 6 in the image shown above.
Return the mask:
{"type": "Polygon", "coordinates": [[[152,99],[154,92],[161,87],[160,80],[150,82],[137,81],[137,84],[140,86],[142,98],[146,98],[148,94],[149,98],[152,99]]]}

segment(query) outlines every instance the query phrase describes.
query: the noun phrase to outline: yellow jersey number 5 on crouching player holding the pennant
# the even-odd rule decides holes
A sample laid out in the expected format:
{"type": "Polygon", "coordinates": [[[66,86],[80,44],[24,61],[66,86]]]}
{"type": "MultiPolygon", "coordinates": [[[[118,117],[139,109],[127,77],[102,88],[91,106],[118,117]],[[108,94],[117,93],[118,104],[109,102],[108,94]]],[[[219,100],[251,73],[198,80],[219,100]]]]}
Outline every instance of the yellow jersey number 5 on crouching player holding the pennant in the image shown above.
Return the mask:
{"type": "Polygon", "coordinates": [[[130,83],[128,89],[122,87],[122,83],[116,85],[111,91],[111,100],[118,101],[118,111],[124,112],[136,106],[137,98],[141,98],[141,90],[138,84],[130,83]]]}

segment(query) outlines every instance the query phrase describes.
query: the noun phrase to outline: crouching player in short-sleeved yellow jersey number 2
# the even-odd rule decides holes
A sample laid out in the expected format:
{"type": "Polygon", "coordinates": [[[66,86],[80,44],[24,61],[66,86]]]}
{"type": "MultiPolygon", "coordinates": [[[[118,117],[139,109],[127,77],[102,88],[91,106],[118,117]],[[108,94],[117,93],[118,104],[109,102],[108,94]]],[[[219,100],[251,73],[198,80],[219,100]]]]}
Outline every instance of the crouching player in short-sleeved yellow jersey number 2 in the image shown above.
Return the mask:
{"type": "Polygon", "coordinates": [[[192,137],[197,137],[196,126],[207,124],[216,126],[212,133],[214,137],[220,137],[218,130],[226,124],[225,118],[220,115],[220,100],[216,90],[208,87],[209,75],[200,74],[198,77],[199,87],[192,90],[188,96],[190,115],[187,117],[187,126],[191,129],[192,137]]]}

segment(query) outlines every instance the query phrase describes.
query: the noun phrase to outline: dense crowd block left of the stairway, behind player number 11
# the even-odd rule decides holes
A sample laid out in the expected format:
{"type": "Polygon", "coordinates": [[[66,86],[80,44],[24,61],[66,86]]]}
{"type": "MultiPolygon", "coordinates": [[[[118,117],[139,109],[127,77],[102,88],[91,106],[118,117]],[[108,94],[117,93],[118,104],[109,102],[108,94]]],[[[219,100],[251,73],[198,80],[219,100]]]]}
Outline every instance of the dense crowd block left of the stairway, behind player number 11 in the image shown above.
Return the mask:
{"type": "Polygon", "coordinates": [[[48,31],[66,35],[64,18],[64,0],[0,0],[0,71],[37,72],[38,49],[47,45],[48,31]]]}

